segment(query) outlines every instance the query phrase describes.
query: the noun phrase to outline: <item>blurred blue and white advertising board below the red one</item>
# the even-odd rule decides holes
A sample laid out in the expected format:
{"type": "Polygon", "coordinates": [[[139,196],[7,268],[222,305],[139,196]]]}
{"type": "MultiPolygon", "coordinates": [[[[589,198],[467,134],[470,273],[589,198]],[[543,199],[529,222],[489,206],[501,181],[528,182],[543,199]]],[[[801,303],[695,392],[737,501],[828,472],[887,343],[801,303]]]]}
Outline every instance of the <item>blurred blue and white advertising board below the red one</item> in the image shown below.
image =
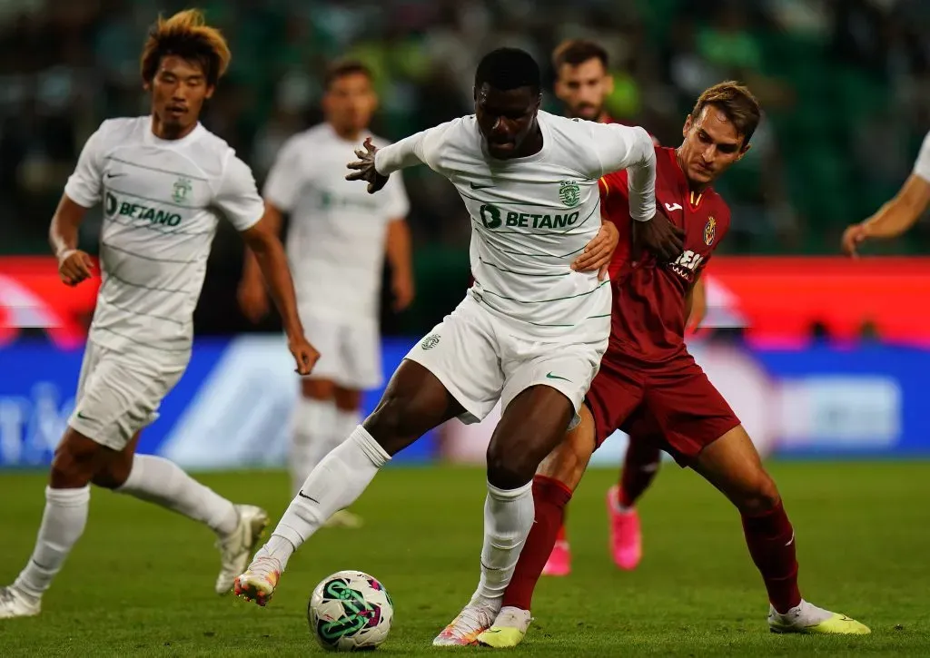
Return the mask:
{"type": "MultiPolygon", "coordinates": [[[[384,341],[385,380],[412,344],[384,341]]],[[[930,456],[928,350],[771,349],[697,338],[691,349],[766,455],[930,456]]],[[[0,348],[0,467],[48,464],[73,409],[81,358],[80,346],[46,340],[0,348]]],[[[297,390],[283,337],[198,340],[187,374],[142,433],[140,451],[195,469],[281,465],[297,390]]],[[[381,392],[365,396],[366,411],[381,392]]],[[[392,463],[480,462],[494,419],[474,426],[451,421],[392,463]]],[[[624,440],[612,437],[595,463],[616,465],[624,440]]]]}

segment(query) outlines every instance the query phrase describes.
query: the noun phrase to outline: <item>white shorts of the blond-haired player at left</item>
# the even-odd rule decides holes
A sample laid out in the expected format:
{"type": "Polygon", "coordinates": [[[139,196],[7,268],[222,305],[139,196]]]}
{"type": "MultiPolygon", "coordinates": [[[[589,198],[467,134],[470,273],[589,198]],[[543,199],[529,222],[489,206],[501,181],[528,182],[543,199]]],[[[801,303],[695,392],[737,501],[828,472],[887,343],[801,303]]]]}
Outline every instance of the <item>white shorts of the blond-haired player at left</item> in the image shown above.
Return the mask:
{"type": "Polygon", "coordinates": [[[151,425],[168,391],[187,368],[189,355],[153,362],[87,342],[74,411],[68,425],[88,439],[121,451],[151,425]]]}

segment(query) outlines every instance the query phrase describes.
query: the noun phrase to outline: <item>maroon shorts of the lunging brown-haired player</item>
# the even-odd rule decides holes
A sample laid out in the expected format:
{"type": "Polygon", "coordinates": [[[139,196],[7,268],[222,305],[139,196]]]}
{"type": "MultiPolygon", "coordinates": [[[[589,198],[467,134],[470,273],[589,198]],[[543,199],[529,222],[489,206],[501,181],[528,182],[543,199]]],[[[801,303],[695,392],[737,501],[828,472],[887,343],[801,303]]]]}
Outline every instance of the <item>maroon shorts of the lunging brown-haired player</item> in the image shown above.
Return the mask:
{"type": "Polygon", "coordinates": [[[597,447],[622,429],[631,441],[658,445],[682,466],[739,425],[690,354],[671,362],[601,362],[585,399],[597,447]]]}

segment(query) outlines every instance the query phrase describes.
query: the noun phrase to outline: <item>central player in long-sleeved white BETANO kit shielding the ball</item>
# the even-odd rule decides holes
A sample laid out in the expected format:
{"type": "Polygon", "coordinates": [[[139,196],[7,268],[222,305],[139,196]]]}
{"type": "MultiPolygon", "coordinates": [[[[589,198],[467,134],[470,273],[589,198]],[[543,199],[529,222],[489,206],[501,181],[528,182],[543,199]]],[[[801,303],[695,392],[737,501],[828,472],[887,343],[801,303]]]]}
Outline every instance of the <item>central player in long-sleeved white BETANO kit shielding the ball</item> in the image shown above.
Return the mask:
{"type": "MultiPolygon", "coordinates": [[[[610,331],[608,281],[572,261],[601,225],[598,179],[630,169],[631,215],[644,243],[669,259],[682,243],[656,215],[656,158],[642,128],[579,122],[539,110],[539,67],[499,48],[475,72],[475,113],[366,151],[347,178],[379,191],[405,166],[429,165],[472,217],[475,283],[394,373],[378,408],[326,455],[235,591],[259,605],[287,559],[337,509],[365,491],[392,454],[458,416],[503,409],[487,449],[482,577],[462,614],[490,625],[533,523],[533,475],[565,437],[610,331]],[[655,216],[655,217],[654,217],[655,216]]],[[[438,644],[458,644],[445,632],[438,644]]]]}

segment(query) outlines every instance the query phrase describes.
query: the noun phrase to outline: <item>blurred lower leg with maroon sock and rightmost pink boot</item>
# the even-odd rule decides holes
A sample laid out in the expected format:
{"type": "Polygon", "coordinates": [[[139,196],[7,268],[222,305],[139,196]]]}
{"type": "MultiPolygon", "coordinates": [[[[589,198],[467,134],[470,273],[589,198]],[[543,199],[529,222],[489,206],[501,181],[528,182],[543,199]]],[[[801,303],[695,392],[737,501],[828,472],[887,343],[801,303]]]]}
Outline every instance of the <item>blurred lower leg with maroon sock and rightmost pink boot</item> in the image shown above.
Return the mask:
{"type": "Polygon", "coordinates": [[[643,532],[639,512],[633,506],[656,477],[661,463],[654,441],[631,436],[619,484],[607,490],[610,552],[614,563],[625,571],[632,571],[643,559],[643,532]]]}

